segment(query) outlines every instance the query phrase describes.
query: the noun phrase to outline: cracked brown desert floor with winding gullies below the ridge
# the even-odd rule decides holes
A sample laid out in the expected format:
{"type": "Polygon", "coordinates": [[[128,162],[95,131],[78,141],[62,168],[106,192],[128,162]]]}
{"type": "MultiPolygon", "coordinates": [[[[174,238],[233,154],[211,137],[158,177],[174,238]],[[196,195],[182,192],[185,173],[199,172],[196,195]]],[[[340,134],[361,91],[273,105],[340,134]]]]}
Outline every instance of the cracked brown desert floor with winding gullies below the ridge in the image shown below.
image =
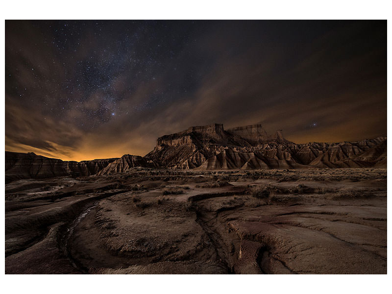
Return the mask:
{"type": "Polygon", "coordinates": [[[13,181],[5,273],[385,274],[387,171],[133,168],[13,181]]]}

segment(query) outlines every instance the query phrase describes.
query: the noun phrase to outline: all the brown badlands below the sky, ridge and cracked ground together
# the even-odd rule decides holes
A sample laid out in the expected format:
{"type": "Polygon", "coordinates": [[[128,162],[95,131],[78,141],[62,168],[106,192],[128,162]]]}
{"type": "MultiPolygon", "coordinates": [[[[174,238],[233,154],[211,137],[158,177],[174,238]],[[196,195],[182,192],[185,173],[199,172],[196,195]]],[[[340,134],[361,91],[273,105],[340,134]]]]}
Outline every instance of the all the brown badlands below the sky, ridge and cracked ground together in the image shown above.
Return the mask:
{"type": "Polygon", "coordinates": [[[5,273],[387,273],[386,144],[215,124],[144,157],[6,152],[5,273]]]}

